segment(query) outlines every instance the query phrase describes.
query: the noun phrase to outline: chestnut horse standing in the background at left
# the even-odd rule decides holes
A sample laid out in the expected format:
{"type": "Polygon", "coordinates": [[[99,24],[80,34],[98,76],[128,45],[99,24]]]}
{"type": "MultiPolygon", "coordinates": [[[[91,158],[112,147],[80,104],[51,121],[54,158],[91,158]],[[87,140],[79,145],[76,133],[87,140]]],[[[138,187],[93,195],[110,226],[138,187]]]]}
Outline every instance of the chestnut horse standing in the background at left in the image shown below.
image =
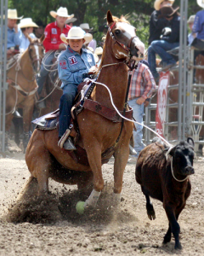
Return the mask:
{"type": "MultiPolygon", "coordinates": [[[[6,93],[6,131],[9,131],[15,108],[23,108],[24,149],[29,141],[31,117],[35,103],[37,82],[35,74],[40,71],[43,57],[43,36],[33,39],[28,36],[29,47],[22,55],[8,62],[8,90],[6,93]]],[[[17,55],[15,55],[17,56],[17,55]]]]}

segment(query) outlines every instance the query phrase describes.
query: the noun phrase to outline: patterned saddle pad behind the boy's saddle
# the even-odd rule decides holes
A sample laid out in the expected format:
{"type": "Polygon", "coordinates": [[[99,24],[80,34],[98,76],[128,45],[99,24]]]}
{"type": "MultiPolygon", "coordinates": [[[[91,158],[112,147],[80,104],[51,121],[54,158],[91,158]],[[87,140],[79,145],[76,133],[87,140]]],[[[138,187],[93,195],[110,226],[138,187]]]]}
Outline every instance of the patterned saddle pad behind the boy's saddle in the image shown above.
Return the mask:
{"type": "Polygon", "coordinates": [[[50,116],[50,113],[41,116],[38,119],[35,119],[32,124],[37,125],[36,128],[39,130],[54,130],[57,128],[59,123],[59,116],[54,119],[46,119],[46,117],[50,116]]]}

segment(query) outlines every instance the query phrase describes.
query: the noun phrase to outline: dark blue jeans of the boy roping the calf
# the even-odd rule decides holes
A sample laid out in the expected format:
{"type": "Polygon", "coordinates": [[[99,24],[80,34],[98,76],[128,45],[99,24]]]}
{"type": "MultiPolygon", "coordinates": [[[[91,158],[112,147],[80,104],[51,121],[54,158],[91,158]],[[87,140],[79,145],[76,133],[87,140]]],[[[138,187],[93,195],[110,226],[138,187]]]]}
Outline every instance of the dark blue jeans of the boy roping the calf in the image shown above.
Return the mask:
{"type": "Polygon", "coordinates": [[[71,108],[77,96],[77,85],[68,84],[63,88],[63,95],[59,102],[59,137],[62,137],[70,126],[71,108]]]}

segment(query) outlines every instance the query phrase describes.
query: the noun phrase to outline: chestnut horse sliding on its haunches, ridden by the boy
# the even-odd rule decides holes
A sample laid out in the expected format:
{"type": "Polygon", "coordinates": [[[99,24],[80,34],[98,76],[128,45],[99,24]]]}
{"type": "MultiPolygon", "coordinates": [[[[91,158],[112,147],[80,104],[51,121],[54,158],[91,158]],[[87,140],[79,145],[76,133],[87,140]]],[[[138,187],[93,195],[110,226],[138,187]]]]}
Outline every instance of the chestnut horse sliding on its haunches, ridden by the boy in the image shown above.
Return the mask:
{"type": "MultiPolygon", "coordinates": [[[[125,61],[133,55],[139,56],[139,51],[144,54],[144,44],[136,36],[135,28],[123,16],[119,19],[112,16],[111,11],[108,11],[107,22],[110,28],[105,39],[105,49],[97,83],[107,85],[111,90],[116,108],[122,111],[124,106],[127,106],[125,104],[127,92],[125,61]]],[[[96,84],[91,99],[99,102],[100,106],[113,109],[110,95],[101,84],[96,84]]],[[[127,107],[126,110],[128,110],[127,107]]],[[[58,129],[52,131],[36,129],[32,133],[26,149],[26,164],[31,172],[31,177],[21,199],[34,195],[34,183],[37,183],[36,193],[44,195],[48,192],[48,178],[52,177],[59,183],[77,184],[78,189],[84,189],[90,183],[94,183],[91,195],[81,205],[83,209],[85,206],[94,207],[104,188],[101,155],[111,148],[112,150],[106,154],[105,159],[110,159],[112,155],[115,157],[113,202],[120,201],[122,177],[127,165],[133,123],[124,121],[122,128],[122,122],[113,122],[87,108],[83,108],[79,113],[77,123],[80,130],[78,145],[85,148],[89,166],[77,163],[67,150],[59,148],[58,129]],[[117,141],[119,137],[120,139],[117,141]]]]}

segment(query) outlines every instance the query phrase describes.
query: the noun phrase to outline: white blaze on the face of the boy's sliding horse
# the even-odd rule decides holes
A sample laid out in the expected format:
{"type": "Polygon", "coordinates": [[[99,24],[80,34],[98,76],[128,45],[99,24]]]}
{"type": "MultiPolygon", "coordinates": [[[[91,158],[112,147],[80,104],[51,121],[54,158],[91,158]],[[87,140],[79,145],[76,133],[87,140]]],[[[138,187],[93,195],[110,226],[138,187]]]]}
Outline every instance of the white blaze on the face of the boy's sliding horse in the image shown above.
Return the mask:
{"type": "MultiPolygon", "coordinates": [[[[126,38],[129,38],[129,40],[133,37],[136,37],[136,33],[135,33],[135,27],[134,26],[131,26],[127,23],[122,23],[122,22],[118,22],[118,26],[120,26],[122,28],[122,32],[123,32],[123,35],[126,37],[126,38]]],[[[137,47],[137,49],[139,49],[139,51],[141,52],[141,54],[144,55],[144,44],[139,40],[139,38],[134,38],[134,42],[135,43],[135,46],[137,47]]]]}

